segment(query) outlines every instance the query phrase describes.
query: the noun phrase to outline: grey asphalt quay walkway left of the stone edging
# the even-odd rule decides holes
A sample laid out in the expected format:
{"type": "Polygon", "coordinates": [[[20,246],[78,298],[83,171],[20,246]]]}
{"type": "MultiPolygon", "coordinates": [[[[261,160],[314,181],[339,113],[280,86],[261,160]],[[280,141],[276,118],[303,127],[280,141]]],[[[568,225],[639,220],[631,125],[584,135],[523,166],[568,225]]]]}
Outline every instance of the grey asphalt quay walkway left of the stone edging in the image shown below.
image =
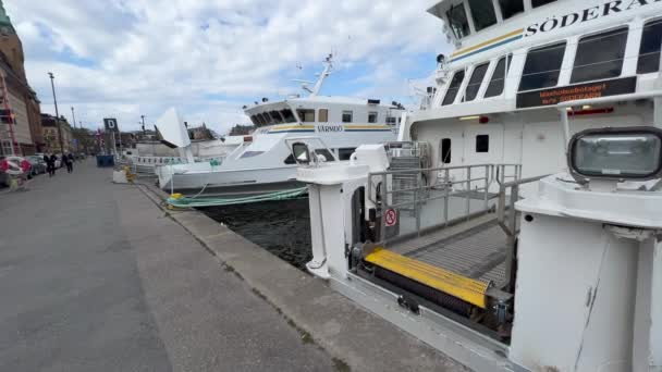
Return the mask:
{"type": "Polygon", "coordinates": [[[0,371],[332,371],[333,360],[91,160],[0,190],[0,371]]]}

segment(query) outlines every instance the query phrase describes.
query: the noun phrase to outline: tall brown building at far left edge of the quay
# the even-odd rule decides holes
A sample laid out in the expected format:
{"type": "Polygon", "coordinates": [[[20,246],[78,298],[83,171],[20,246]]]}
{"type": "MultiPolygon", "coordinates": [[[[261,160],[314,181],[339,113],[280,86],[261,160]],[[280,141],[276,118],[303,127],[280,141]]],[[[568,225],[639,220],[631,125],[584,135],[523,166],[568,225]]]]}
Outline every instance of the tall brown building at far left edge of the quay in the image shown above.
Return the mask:
{"type": "Polygon", "coordinates": [[[10,113],[0,121],[4,154],[33,154],[45,145],[40,102],[27,82],[24,63],[23,45],[0,0],[0,110],[10,113]]]}

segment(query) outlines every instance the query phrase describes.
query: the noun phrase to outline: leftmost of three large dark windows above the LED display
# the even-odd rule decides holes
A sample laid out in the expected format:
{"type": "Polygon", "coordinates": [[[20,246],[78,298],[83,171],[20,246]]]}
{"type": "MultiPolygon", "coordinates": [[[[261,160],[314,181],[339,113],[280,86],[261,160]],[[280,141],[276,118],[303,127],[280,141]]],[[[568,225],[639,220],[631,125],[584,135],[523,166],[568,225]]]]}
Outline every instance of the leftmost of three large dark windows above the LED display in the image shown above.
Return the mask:
{"type": "Polygon", "coordinates": [[[564,52],[565,41],[529,51],[524,64],[519,90],[556,86],[564,52]]]}

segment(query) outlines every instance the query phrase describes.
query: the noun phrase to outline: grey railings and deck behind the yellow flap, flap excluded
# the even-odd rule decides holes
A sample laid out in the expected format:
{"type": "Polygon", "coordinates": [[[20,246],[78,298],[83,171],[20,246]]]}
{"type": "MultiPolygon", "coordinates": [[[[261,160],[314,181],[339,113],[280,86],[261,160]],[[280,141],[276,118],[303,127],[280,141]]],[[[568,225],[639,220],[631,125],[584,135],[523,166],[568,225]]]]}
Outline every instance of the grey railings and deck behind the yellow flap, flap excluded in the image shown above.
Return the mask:
{"type": "Polygon", "coordinates": [[[512,293],[518,232],[514,204],[519,187],[540,178],[522,178],[519,164],[372,173],[368,189],[377,193],[368,197],[379,210],[377,246],[512,293]],[[394,175],[406,173],[415,182],[400,186],[394,175]],[[406,198],[399,197],[403,193],[406,198]],[[387,216],[390,210],[395,224],[387,216]]]}

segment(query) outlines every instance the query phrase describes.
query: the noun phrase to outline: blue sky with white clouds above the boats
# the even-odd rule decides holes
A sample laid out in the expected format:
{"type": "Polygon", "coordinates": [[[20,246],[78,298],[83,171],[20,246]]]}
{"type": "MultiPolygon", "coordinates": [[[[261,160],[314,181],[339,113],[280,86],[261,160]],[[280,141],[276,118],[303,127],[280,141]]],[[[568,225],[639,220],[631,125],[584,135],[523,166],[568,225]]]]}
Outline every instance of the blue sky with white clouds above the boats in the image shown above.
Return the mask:
{"type": "MultiPolygon", "coordinates": [[[[433,0],[3,0],[23,40],[30,85],[54,112],[96,128],[118,117],[139,128],[169,107],[220,133],[241,107],[301,92],[335,53],[324,95],[413,104],[412,85],[448,52],[433,0]],[[414,80],[414,82],[410,82],[414,80]]],[[[425,85],[425,83],[424,83],[425,85]]]]}

